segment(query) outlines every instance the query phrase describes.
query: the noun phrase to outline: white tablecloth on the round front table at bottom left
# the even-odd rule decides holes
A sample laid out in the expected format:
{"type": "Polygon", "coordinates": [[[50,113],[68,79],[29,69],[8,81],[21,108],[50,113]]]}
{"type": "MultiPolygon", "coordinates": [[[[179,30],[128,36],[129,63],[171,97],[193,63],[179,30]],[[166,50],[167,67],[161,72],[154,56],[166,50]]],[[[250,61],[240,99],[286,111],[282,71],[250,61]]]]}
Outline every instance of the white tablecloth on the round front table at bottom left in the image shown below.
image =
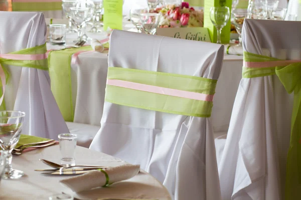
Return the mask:
{"type": "MultiPolygon", "coordinates": [[[[140,172],[128,180],[114,183],[108,187],[100,187],[92,191],[75,194],[71,189],[59,183],[59,180],[70,176],[44,175],[39,171],[34,171],[34,169],[51,168],[40,161],[39,158],[60,163],[59,145],[40,148],[22,155],[14,155],[13,167],[23,170],[26,175],[19,180],[2,179],[0,183],[0,199],[43,200],[61,192],[72,194],[80,199],[100,197],[171,199],[167,189],[146,172],[140,172]]],[[[77,146],[76,163],[117,166],[125,162],[110,155],[77,146]]]]}

